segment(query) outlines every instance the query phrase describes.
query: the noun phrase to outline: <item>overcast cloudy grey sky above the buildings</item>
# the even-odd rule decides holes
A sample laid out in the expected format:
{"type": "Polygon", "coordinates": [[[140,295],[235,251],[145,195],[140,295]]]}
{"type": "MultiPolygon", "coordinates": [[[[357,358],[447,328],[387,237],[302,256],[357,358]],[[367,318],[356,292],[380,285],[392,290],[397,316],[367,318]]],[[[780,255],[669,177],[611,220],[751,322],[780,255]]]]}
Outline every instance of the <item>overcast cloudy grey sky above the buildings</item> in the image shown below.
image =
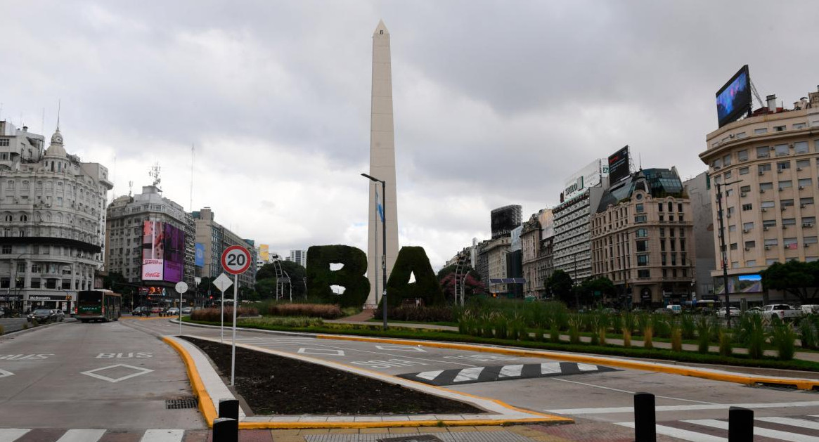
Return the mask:
{"type": "MultiPolygon", "coordinates": [[[[490,212],[559,203],[628,145],[704,172],[742,65],[786,107],[819,84],[819,2],[4,2],[0,120],[152,183],[270,250],[367,250],[372,35],[391,34],[400,246],[435,269],[490,212]]],[[[755,105],[755,107],[758,104],[755,105]]]]}

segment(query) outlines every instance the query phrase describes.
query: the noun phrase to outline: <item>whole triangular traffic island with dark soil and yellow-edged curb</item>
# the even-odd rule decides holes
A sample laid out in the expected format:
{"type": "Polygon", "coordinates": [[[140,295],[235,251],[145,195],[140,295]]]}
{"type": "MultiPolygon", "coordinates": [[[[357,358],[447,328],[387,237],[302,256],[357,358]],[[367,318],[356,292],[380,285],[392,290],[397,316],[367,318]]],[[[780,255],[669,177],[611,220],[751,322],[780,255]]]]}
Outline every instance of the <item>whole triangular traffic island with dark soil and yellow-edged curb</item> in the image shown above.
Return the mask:
{"type": "MultiPolygon", "coordinates": [[[[230,377],[231,349],[218,339],[199,338],[165,336],[164,340],[182,354],[194,393],[200,400],[200,409],[212,425],[219,399],[226,399],[224,379],[230,377]],[[204,354],[197,354],[200,351],[204,354]],[[214,374],[207,375],[208,370],[214,374]]],[[[573,422],[567,417],[514,408],[495,400],[340,363],[309,357],[296,359],[252,345],[237,345],[234,377],[236,392],[250,408],[240,413],[239,427],[243,429],[573,422]]]]}

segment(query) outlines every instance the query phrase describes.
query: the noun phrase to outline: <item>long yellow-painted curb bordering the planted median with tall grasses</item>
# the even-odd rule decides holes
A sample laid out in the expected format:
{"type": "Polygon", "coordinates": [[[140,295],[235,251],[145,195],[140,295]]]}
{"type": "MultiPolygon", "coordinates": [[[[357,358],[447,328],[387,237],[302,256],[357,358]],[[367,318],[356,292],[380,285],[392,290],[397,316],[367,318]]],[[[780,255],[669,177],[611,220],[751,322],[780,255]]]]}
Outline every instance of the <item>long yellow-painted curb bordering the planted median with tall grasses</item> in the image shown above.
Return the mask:
{"type": "Polygon", "coordinates": [[[561,359],[569,362],[579,363],[596,363],[604,364],[618,368],[631,368],[634,370],[647,370],[651,372],[663,372],[668,374],[675,374],[688,377],[699,377],[702,379],[709,379],[712,381],[734,382],[750,386],[756,383],[772,384],[780,386],[796,386],[799,390],[819,390],[819,381],[810,379],[779,379],[774,377],[758,377],[753,375],[744,375],[736,373],[715,373],[697,368],[690,367],[671,367],[667,365],[658,365],[655,363],[646,363],[642,361],[629,361],[625,359],[609,359],[600,356],[589,356],[585,354],[565,354],[556,353],[547,350],[517,350],[517,349],[502,349],[497,347],[482,347],[472,344],[454,344],[450,342],[432,342],[432,341],[412,341],[412,340],[395,340],[386,338],[373,338],[365,336],[342,336],[342,335],[315,335],[317,339],[332,339],[341,341],[364,341],[364,342],[379,342],[382,344],[396,344],[396,345],[424,345],[427,347],[436,347],[441,349],[453,350],[467,350],[478,351],[483,353],[497,353],[508,354],[510,356],[523,356],[535,358],[550,358],[561,359]]]}

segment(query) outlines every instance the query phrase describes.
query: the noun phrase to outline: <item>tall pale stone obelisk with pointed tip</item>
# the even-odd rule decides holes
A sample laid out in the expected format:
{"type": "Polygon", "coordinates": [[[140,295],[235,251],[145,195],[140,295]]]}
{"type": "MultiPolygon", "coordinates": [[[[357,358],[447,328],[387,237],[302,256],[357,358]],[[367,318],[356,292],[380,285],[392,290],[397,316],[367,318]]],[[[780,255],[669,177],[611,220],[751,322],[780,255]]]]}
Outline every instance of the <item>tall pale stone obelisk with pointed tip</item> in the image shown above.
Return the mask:
{"type": "Polygon", "coordinates": [[[383,20],[373,33],[373,96],[369,129],[369,174],[386,183],[387,195],[381,194],[381,183],[369,184],[369,229],[367,236],[367,304],[381,302],[384,291],[381,259],[383,255],[382,223],[376,206],[376,193],[386,198],[384,222],[387,225],[387,279],[398,255],[398,210],[396,207],[396,144],[392,122],[392,67],[390,33],[383,20]],[[378,287],[378,295],[376,295],[378,287]]]}

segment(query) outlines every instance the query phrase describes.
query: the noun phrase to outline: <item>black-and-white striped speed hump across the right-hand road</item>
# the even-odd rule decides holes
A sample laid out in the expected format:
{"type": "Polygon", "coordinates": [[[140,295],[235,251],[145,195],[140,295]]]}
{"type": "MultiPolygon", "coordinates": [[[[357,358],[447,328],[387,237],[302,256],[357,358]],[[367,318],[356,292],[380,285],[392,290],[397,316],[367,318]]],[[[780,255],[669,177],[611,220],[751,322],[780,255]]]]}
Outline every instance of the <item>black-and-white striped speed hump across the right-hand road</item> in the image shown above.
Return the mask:
{"type": "Polygon", "coordinates": [[[530,377],[554,377],[584,373],[618,372],[617,368],[590,363],[520,363],[495,367],[453,368],[430,372],[406,373],[398,377],[432,386],[453,386],[476,382],[507,381],[530,377]]]}

